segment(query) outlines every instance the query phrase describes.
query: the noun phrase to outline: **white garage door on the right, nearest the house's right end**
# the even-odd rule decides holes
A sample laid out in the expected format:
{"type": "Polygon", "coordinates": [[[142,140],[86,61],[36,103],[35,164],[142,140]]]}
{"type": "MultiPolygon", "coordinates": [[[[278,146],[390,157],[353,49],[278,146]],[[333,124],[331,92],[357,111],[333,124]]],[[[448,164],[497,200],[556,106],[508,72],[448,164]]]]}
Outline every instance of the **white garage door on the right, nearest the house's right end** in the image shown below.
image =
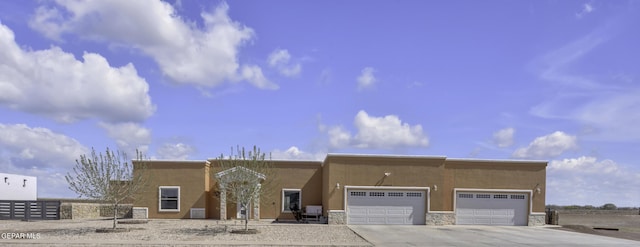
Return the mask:
{"type": "Polygon", "coordinates": [[[526,226],[529,195],[458,192],[457,225],[526,226]]]}

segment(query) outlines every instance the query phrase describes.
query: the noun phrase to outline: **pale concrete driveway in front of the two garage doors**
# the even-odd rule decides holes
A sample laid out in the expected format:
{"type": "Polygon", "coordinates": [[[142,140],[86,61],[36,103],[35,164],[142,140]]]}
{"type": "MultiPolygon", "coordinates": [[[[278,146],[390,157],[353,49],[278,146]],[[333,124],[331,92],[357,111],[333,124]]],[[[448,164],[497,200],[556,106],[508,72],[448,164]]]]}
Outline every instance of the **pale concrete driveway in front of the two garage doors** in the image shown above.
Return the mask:
{"type": "Polygon", "coordinates": [[[640,246],[640,242],[549,227],[351,225],[376,246],[640,246]]]}

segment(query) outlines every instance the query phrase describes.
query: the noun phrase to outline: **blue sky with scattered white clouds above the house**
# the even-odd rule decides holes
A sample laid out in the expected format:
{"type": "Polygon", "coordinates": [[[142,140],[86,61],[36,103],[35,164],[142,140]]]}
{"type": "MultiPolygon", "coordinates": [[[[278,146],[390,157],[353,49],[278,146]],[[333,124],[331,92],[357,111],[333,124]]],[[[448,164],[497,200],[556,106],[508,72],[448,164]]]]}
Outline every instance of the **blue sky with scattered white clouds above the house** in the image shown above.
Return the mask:
{"type": "Polygon", "coordinates": [[[0,169],[73,197],[91,147],[548,160],[640,205],[635,1],[2,1],[0,169]]]}

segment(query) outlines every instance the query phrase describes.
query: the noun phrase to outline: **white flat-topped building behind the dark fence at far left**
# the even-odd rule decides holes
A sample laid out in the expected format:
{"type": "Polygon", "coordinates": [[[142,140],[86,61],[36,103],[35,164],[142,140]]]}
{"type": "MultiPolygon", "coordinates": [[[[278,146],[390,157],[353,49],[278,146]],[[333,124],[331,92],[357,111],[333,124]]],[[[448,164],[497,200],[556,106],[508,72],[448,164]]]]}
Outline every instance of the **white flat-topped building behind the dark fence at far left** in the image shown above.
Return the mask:
{"type": "Polygon", "coordinates": [[[38,178],[0,173],[0,200],[35,201],[38,199],[38,178]]]}

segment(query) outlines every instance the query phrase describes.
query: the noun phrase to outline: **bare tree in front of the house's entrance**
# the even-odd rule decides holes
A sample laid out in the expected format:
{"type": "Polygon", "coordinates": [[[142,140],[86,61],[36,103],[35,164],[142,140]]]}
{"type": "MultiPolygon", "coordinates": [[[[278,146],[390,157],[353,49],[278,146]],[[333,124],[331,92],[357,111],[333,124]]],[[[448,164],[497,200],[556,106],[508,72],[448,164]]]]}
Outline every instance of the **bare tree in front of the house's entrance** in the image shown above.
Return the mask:
{"type": "MultiPolygon", "coordinates": [[[[238,153],[226,157],[220,155],[215,163],[221,173],[214,174],[218,180],[221,191],[226,191],[229,196],[227,200],[236,201],[245,208],[244,229],[249,229],[249,207],[251,202],[257,202],[260,197],[268,194],[271,189],[269,184],[274,180],[273,163],[271,157],[266,158],[266,154],[260,148],[253,146],[252,151],[246,152],[244,147],[237,148],[238,153]],[[256,200],[257,199],[257,200],[256,200]]],[[[212,169],[216,170],[216,169],[212,169]]],[[[265,199],[265,198],[262,198],[265,199]]],[[[259,202],[257,202],[259,203],[259,202]]]]}

